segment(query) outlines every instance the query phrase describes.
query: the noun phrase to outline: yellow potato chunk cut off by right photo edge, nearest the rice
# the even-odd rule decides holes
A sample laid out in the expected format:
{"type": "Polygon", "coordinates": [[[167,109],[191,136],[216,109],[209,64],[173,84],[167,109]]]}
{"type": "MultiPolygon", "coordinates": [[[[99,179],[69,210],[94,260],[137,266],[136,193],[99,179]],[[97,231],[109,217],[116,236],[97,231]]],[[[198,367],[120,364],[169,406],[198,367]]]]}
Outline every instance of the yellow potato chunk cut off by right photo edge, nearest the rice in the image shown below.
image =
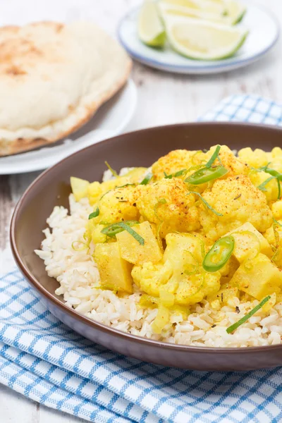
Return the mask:
{"type": "Polygon", "coordinates": [[[266,255],[259,254],[251,262],[243,262],[230,283],[257,300],[262,300],[266,295],[280,292],[282,272],[266,255]]]}

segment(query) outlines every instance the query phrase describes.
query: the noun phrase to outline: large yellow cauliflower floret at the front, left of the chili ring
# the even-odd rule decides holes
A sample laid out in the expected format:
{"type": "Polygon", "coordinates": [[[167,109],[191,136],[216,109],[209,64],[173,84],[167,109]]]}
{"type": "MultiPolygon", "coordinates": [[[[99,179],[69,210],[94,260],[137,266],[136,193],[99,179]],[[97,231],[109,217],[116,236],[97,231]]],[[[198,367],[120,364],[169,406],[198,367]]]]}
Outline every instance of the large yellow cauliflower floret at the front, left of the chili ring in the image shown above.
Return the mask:
{"type": "Polygon", "coordinates": [[[191,305],[220,289],[221,274],[202,269],[202,241],[196,235],[169,233],[164,262],[134,266],[133,281],[145,293],[170,293],[177,305],[191,305]]]}

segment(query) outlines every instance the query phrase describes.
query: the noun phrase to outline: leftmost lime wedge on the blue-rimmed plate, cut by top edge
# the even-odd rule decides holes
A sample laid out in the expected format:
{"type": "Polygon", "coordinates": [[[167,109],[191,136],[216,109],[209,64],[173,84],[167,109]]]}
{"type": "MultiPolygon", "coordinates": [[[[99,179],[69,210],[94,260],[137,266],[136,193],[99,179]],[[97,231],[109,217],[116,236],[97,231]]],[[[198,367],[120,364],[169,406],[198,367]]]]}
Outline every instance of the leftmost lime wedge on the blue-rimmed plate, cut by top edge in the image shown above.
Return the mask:
{"type": "Polygon", "coordinates": [[[155,1],[145,1],[140,10],[138,36],[150,47],[164,47],[166,32],[155,1]]]}

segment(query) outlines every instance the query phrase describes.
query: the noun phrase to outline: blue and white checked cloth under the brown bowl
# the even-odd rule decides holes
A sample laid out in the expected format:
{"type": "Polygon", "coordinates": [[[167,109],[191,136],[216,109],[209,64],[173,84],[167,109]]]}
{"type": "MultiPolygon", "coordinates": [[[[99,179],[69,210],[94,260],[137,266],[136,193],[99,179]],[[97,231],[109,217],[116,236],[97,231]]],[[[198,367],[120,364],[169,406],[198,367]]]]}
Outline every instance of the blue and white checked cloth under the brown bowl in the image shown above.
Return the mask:
{"type": "MultiPolygon", "coordinates": [[[[224,99],[201,120],[282,125],[282,106],[224,99]]],[[[53,317],[13,268],[0,278],[0,382],[95,423],[282,421],[282,369],[190,372],[93,345],[53,317]]]]}

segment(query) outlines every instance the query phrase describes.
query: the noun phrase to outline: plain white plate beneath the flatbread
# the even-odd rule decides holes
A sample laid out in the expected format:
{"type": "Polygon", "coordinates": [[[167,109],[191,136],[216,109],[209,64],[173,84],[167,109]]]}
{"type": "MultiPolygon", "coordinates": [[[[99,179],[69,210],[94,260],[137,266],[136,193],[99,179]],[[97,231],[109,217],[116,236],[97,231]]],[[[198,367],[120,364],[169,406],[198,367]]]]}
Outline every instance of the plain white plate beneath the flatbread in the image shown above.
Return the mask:
{"type": "Polygon", "coordinates": [[[97,114],[76,133],[55,145],[30,152],[0,157],[0,175],[39,171],[61,159],[106,138],[114,137],[128,125],[137,105],[137,90],[132,80],[106,102],[97,114]]]}

